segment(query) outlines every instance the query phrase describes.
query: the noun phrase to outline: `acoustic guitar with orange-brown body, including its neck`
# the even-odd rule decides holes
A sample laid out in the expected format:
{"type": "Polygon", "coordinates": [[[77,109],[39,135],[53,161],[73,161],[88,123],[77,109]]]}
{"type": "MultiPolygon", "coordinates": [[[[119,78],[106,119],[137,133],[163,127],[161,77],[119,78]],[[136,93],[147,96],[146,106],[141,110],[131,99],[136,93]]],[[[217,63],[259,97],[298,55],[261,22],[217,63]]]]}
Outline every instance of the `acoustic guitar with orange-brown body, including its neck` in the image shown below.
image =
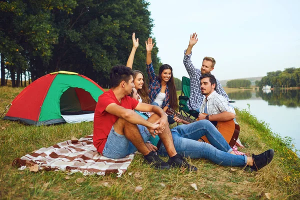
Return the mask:
{"type": "MultiPolygon", "coordinates": [[[[178,114],[172,108],[168,108],[165,112],[166,112],[167,115],[175,115],[176,114],[176,116],[178,118],[183,119],[183,120],[185,120],[189,123],[197,121],[197,120],[191,119],[187,116],[183,116],[181,114],[178,114]]],[[[206,114],[206,113],[203,113],[203,114],[206,114]]],[[[227,141],[229,146],[231,146],[231,147],[234,146],[234,144],[236,142],[236,139],[238,137],[238,134],[239,134],[239,125],[238,125],[238,123],[236,121],[234,121],[233,119],[231,119],[229,121],[210,121],[210,122],[223,135],[223,137],[225,138],[225,140],[227,141]]],[[[205,142],[209,143],[206,136],[202,136],[201,139],[204,140],[205,142]]]]}

